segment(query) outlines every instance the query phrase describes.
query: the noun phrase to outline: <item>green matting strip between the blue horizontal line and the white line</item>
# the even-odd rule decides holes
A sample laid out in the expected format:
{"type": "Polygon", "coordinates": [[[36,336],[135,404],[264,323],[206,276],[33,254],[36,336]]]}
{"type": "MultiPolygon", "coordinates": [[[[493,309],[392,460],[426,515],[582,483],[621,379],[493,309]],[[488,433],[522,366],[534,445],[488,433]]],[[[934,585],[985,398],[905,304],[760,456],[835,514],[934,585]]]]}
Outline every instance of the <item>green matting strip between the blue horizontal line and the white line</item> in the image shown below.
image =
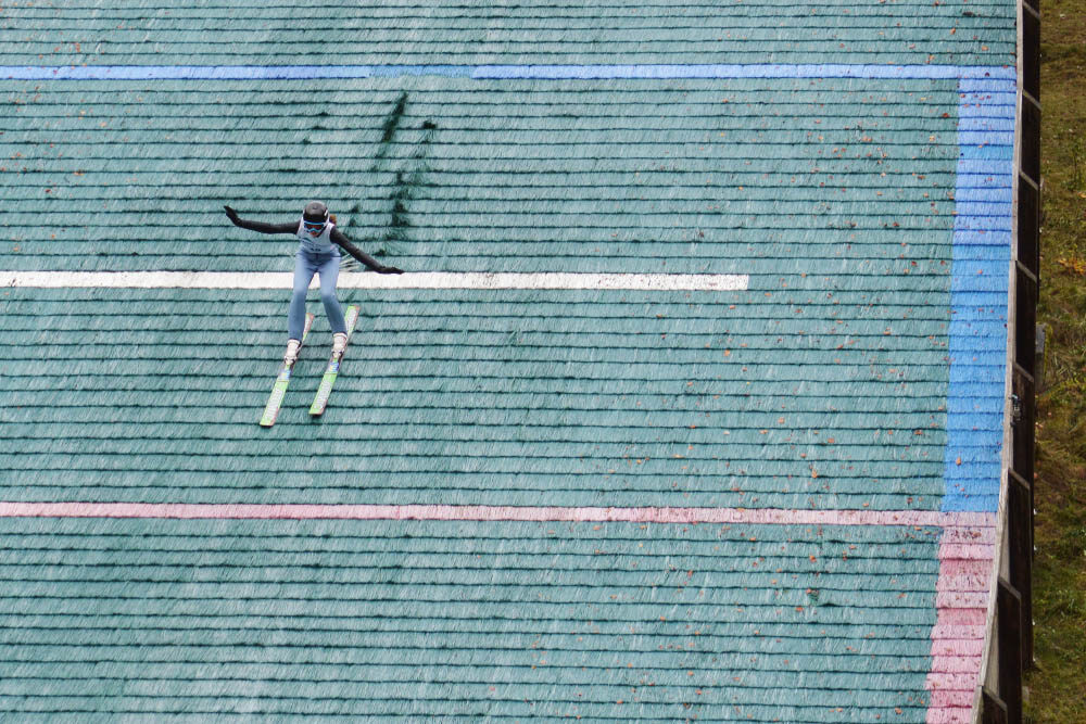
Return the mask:
{"type": "Polygon", "coordinates": [[[290,270],[325,200],[408,271],[752,274],[942,293],[954,80],[12,81],[11,270],[290,270]],[[845,281],[851,280],[851,281],[845,281]]]}

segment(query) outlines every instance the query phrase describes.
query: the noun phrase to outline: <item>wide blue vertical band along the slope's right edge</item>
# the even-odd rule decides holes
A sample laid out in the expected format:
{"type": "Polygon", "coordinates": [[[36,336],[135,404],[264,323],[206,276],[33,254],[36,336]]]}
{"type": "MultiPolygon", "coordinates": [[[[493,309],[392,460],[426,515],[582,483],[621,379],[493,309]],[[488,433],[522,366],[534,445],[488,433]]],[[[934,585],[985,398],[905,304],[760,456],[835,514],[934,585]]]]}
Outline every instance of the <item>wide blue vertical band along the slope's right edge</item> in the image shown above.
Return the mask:
{"type": "Polygon", "coordinates": [[[958,90],[946,492],[940,508],[995,512],[1002,472],[1015,84],[1013,77],[963,77],[958,90]]]}

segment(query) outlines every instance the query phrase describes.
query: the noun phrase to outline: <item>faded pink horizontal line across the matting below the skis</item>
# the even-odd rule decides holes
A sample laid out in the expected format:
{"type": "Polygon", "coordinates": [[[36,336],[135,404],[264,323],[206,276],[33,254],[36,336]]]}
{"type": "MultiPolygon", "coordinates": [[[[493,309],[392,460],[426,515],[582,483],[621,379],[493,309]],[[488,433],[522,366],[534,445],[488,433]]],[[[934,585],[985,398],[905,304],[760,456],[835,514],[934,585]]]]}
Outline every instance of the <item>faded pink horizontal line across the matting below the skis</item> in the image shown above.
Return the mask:
{"type": "MultiPolygon", "coordinates": [[[[983,531],[990,513],[937,510],[750,510],[447,505],[205,505],[178,503],[0,503],[0,518],[177,518],[251,520],[449,520],[526,522],[913,525],[983,531]]],[[[964,547],[972,547],[968,544],[964,547]]],[[[982,546],[983,547],[983,546],[982,546]]],[[[980,551],[978,551],[980,552],[980,551]]]]}

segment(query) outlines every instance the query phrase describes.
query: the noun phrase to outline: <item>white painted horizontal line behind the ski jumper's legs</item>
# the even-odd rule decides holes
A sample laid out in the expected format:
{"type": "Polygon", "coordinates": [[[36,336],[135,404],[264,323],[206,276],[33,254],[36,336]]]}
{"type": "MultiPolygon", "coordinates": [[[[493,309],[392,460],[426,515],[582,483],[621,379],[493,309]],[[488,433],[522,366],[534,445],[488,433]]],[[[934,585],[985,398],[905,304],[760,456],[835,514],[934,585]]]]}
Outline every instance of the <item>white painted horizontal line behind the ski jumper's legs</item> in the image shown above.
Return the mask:
{"type": "MultiPolygon", "coordinates": [[[[0,285],[39,289],[290,289],[290,272],[233,271],[3,271],[0,285]]],[[[745,274],[512,274],[413,271],[341,272],[341,289],[586,289],[632,291],[745,291],[745,274]]],[[[317,285],[314,277],[311,287],[317,285]]]]}

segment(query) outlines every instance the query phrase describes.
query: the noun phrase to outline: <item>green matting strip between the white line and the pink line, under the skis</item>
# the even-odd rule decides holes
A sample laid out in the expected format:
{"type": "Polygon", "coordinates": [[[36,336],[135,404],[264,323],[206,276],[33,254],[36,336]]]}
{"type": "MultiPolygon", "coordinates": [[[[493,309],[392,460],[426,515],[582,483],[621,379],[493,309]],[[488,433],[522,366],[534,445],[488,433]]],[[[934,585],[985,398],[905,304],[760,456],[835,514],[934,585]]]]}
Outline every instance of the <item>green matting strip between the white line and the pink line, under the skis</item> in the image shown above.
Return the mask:
{"type": "Polygon", "coordinates": [[[944,491],[947,308],[926,293],[344,291],[362,318],[328,411],[305,412],[314,300],[261,430],[287,297],[0,292],[0,498],[898,510],[944,491]]]}

